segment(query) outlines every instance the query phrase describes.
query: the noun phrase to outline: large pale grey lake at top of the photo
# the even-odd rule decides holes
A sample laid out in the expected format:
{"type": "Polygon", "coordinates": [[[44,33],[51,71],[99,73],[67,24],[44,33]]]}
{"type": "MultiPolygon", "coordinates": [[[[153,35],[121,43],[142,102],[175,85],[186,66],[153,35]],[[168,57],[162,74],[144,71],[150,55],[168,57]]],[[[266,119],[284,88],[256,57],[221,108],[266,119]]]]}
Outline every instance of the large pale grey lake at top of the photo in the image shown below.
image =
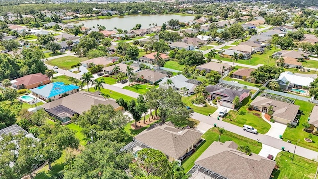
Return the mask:
{"type": "Polygon", "coordinates": [[[178,19],[180,22],[188,22],[193,20],[193,16],[181,16],[174,14],[167,15],[125,15],[120,17],[112,17],[108,19],[93,19],[83,20],[78,22],[70,22],[69,25],[84,24],[85,27],[92,28],[97,24],[105,26],[107,30],[113,30],[115,27],[122,30],[130,30],[135,27],[136,24],[141,24],[141,28],[149,28],[149,24],[162,25],[171,19],[178,19]]]}

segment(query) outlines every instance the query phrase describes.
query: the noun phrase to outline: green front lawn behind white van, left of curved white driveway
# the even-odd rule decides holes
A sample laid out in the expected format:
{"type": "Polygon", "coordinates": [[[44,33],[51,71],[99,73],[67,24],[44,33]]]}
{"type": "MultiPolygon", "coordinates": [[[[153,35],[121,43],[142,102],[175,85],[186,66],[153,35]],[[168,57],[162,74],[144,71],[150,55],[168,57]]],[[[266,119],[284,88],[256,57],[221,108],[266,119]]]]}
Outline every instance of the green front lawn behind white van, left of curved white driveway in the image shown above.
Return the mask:
{"type": "Polygon", "coordinates": [[[247,104],[251,103],[250,96],[242,101],[239,111],[231,110],[223,121],[243,127],[244,124],[253,126],[259,133],[265,134],[270,129],[270,124],[262,119],[261,112],[248,111],[247,104]]]}

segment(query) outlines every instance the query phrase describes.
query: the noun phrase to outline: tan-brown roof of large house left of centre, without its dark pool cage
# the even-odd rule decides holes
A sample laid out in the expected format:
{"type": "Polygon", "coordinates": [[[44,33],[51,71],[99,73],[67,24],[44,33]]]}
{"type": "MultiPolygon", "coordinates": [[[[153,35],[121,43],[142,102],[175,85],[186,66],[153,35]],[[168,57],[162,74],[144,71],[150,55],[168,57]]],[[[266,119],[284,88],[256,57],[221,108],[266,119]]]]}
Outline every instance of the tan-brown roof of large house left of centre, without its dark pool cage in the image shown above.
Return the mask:
{"type": "Polygon", "coordinates": [[[62,97],[52,102],[43,104],[42,107],[45,109],[52,109],[56,106],[62,105],[67,107],[78,114],[82,114],[91,108],[92,105],[110,104],[114,108],[119,107],[115,99],[105,99],[103,96],[97,93],[90,93],[85,91],[79,91],[74,94],[62,97]]]}

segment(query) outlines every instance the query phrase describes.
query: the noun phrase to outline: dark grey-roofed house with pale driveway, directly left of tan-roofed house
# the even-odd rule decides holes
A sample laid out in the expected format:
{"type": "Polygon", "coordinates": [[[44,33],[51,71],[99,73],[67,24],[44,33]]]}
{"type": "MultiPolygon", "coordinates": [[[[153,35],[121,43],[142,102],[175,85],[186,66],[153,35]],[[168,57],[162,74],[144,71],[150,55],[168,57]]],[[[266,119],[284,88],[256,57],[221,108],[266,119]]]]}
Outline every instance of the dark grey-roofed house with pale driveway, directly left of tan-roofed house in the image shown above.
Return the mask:
{"type": "MultiPolygon", "coordinates": [[[[207,98],[214,100],[220,97],[220,105],[224,107],[234,108],[233,100],[236,96],[239,96],[239,101],[242,102],[249,96],[250,89],[244,89],[236,86],[234,89],[228,88],[231,85],[226,83],[218,83],[216,85],[209,85],[205,89],[209,93],[207,98]]],[[[233,86],[232,86],[233,87],[233,86]]]]}

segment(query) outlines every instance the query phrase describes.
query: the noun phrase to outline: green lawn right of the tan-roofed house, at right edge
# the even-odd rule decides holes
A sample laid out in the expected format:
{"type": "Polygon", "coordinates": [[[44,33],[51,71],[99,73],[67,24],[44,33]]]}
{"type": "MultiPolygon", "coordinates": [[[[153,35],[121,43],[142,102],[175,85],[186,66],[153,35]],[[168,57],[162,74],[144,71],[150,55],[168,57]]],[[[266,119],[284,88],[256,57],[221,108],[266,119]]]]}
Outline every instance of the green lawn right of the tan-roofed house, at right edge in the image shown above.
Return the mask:
{"type": "Polygon", "coordinates": [[[305,142],[304,138],[305,137],[308,138],[309,133],[304,132],[303,131],[304,127],[302,126],[303,123],[307,122],[307,119],[310,115],[310,112],[312,111],[314,107],[314,104],[301,101],[301,100],[296,100],[294,104],[300,106],[299,110],[302,110],[304,115],[301,115],[298,126],[296,128],[290,128],[290,127],[286,128],[283,134],[283,140],[284,141],[290,140],[292,141],[293,144],[295,144],[297,140],[299,139],[299,142],[298,142],[299,146],[318,152],[318,145],[316,144],[316,142],[318,142],[318,136],[311,135],[313,142],[312,143],[305,142]]]}

